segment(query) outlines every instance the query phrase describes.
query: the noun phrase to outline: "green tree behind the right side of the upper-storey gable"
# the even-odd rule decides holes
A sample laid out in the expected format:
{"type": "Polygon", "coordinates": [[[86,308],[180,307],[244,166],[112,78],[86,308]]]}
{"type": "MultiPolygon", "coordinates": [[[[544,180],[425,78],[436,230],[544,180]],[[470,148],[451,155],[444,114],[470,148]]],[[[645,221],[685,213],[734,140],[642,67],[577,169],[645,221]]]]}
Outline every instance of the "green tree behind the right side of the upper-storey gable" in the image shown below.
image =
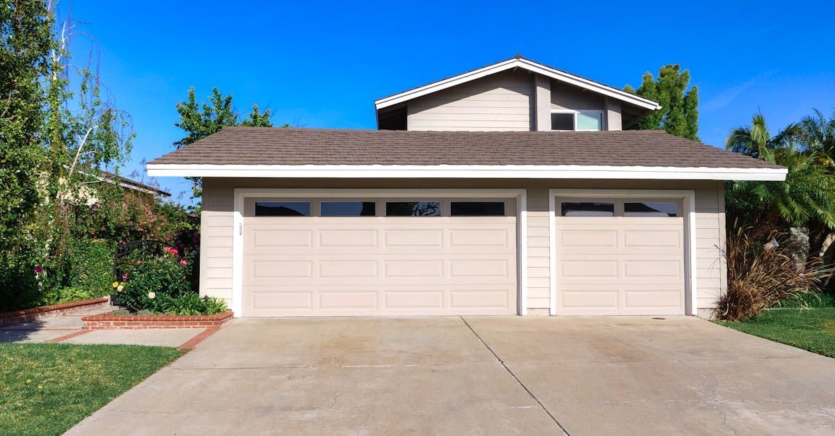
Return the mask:
{"type": "Polygon", "coordinates": [[[679,65],[665,65],[658,71],[658,79],[646,72],[638,89],[626,85],[625,91],[654,100],[660,110],[641,119],[637,129],[663,129],[687,139],[699,139],[699,88],[690,84],[690,71],[679,65]]]}

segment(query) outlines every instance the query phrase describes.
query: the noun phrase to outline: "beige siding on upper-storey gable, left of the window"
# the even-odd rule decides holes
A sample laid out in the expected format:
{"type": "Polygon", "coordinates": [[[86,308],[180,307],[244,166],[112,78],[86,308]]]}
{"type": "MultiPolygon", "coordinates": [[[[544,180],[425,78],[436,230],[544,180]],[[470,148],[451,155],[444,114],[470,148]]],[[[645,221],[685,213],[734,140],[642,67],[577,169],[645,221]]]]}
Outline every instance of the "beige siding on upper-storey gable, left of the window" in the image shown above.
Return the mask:
{"type": "Polygon", "coordinates": [[[414,99],[409,130],[532,130],[530,74],[507,71],[414,99]]]}

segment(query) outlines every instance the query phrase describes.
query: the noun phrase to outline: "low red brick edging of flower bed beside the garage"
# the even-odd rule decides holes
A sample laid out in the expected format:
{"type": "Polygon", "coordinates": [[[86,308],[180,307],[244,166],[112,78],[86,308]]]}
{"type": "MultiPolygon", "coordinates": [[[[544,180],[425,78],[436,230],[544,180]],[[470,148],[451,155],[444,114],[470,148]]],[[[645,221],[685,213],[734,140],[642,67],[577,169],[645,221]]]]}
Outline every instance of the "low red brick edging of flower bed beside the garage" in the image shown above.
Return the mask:
{"type": "Polygon", "coordinates": [[[110,328],[206,328],[220,327],[231,320],[231,311],[218,313],[217,315],[202,315],[194,317],[175,317],[170,315],[114,316],[104,314],[81,318],[81,321],[84,322],[85,330],[103,330],[110,328]]]}

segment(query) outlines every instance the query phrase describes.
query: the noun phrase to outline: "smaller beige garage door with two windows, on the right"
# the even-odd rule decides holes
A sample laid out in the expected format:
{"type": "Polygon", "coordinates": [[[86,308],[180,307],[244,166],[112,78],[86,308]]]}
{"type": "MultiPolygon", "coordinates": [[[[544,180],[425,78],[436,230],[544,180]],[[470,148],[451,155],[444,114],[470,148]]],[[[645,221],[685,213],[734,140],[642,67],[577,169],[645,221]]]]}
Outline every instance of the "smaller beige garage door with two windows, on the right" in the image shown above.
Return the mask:
{"type": "Polygon", "coordinates": [[[556,200],[559,315],[685,313],[684,218],[671,200],[556,200]]]}

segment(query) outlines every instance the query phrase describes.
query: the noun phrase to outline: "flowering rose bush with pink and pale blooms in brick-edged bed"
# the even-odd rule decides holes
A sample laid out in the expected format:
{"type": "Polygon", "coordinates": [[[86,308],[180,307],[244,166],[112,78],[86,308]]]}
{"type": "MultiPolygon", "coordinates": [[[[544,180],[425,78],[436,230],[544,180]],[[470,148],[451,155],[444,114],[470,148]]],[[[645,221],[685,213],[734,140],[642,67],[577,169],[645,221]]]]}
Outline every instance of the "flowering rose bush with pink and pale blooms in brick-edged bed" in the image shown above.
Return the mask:
{"type": "Polygon", "coordinates": [[[157,312],[164,297],[180,297],[190,292],[188,261],[166,250],[164,255],[134,261],[134,269],[127,273],[124,284],[113,283],[119,304],[131,312],[143,309],[157,312]]]}

